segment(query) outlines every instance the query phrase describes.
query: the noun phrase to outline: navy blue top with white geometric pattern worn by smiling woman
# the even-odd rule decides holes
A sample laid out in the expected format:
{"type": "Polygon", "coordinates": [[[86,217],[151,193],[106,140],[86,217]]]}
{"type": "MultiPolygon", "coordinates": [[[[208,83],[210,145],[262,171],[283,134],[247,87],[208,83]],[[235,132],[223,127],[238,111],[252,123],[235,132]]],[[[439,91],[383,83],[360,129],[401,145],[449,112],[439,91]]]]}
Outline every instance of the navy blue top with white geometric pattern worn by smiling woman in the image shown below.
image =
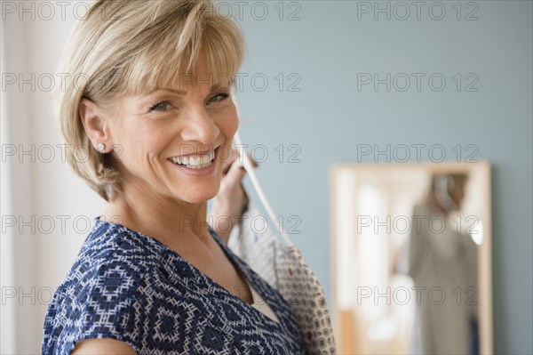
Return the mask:
{"type": "Polygon", "coordinates": [[[43,353],[68,354],[76,341],[112,338],[149,355],[303,354],[282,295],[210,232],[280,323],[155,238],[97,218],[48,307],[43,353]]]}

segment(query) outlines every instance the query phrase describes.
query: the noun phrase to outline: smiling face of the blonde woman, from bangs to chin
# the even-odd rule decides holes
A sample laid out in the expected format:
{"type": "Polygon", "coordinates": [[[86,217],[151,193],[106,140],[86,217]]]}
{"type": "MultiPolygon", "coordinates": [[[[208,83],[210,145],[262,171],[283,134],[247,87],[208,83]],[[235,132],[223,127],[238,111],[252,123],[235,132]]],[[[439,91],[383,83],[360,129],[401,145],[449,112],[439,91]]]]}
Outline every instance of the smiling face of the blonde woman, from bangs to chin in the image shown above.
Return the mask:
{"type": "Polygon", "coordinates": [[[189,203],[219,191],[238,117],[227,81],[210,76],[204,56],[196,73],[196,82],[178,76],[168,87],[118,101],[108,130],[124,190],[189,203]]]}

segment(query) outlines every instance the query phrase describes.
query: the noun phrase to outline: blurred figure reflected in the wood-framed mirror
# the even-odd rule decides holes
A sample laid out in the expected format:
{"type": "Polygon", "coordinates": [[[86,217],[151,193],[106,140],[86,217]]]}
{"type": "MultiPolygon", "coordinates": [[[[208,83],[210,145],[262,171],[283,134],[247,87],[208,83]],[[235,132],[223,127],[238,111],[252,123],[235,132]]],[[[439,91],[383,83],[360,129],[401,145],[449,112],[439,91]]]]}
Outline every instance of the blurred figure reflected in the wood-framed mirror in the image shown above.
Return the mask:
{"type": "Polygon", "coordinates": [[[434,174],[426,198],[414,207],[413,219],[425,217],[410,232],[407,258],[413,288],[428,292],[426,302],[416,305],[416,346],[420,353],[479,353],[475,291],[478,246],[470,235],[457,229],[453,222],[457,220],[451,219],[463,205],[467,182],[466,173],[434,174]],[[456,302],[439,301],[440,292],[434,294],[434,290],[453,297],[459,290],[459,294],[456,302]],[[461,293],[466,295],[463,302],[459,302],[461,293]]]}

